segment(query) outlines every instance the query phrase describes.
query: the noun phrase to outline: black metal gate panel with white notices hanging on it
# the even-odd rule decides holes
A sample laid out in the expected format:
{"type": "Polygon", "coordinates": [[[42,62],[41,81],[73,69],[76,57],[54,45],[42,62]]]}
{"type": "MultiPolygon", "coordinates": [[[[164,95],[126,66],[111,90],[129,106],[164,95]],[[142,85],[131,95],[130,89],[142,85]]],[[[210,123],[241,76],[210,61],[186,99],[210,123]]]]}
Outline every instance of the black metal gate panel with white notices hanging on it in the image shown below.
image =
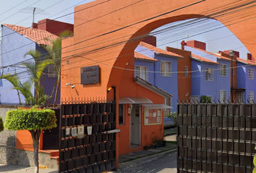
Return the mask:
{"type": "Polygon", "coordinates": [[[59,172],[116,167],[116,133],[111,133],[116,129],[115,102],[61,105],[60,127],[59,172]]]}

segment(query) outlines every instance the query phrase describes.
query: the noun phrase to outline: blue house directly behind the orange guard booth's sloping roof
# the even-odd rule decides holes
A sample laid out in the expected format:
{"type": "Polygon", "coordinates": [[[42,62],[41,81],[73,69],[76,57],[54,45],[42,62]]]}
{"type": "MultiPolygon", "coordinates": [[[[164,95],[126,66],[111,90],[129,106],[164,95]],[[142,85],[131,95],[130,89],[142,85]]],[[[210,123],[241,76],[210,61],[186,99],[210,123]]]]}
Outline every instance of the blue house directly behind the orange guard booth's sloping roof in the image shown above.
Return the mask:
{"type": "Polygon", "coordinates": [[[177,58],[176,53],[157,48],[154,44],[141,42],[135,49],[135,76],[168,92],[173,97],[166,99],[166,105],[176,112],[178,97],[177,58]]]}

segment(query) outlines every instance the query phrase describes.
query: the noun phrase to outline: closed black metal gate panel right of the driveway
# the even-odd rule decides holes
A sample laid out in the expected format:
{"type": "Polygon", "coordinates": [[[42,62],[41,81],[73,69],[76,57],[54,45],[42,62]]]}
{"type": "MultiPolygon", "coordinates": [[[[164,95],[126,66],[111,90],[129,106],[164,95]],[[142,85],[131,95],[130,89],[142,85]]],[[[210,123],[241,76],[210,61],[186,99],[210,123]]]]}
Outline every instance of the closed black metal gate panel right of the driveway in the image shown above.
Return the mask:
{"type": "Polygon", "coordinates": [[[178,104],[177,172],[251,173],[256,104],[178,104]]]}

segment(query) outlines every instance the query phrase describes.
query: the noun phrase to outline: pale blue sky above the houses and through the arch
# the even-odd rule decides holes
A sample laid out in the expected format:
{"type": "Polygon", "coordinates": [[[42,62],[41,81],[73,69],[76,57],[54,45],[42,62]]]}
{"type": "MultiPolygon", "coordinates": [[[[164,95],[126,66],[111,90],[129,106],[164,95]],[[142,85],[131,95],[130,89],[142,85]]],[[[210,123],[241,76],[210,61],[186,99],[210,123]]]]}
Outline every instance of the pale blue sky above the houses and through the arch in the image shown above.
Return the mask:
{"type": "MultiPolygon", "coordinates": [[[[12,25],[20,25],[31,27],[33,22],[33,8],[35,7],[35,22],[40,19],[56,19],[61,22],[74,22],[74,6],[85,4],[93,0],[7,0],[1,1],[0,6],[0,22],[12,25]],[[69,14],[67,16],[64,16],[69,14]],[[62,17],[64,16],[64,17],[62,17]]],[[[121,0],[120,0],[121,1],[121,0]]],[[[176,25],[171,23],[161,28],[176,25]]],[[[159,28],[158,30],[160,30],[159,28]]],[[[203,22],[202,25],[189,25],[187,29],[177,28],[176,30],[168,30],[167,32],[158,33],[158,47],[165,49],[166,46],[180,48],[182,40],[200,40],[206,43],[208,51],[214,53],[218,50],[237,50],[240,52],[240,58],[246,58],[248,50],[242,43],[223,25],[213,19],[203,22]],[[212,32],[206,32],[216,29],[212,32]],[[196,36],[193,36],[196,35],[196,36]]]]}

